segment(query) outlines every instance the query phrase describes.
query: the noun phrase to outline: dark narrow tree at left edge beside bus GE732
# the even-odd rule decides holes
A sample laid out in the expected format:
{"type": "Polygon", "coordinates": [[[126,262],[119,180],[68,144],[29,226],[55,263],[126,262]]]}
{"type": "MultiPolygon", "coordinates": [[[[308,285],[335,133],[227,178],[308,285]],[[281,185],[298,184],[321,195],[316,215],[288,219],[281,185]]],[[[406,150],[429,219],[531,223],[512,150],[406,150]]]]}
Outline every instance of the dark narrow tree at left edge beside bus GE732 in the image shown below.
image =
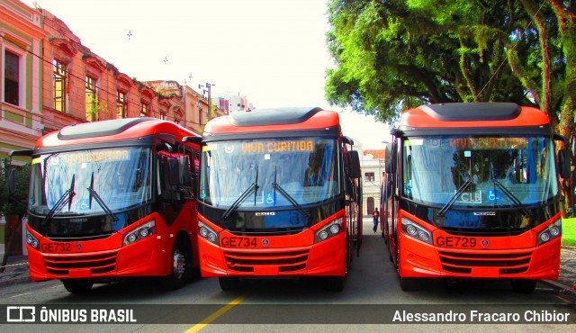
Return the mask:
{"type": "Polygon", "coordinates": [[[10,234],[8,242],[5,244],[4,257],[2,259],[2,268],[0,272],[4,272],[4,266],[8,260],[9,249],[14,240],[14,232],[22,226],[22,220],[26,214],[26,202],[28,201],[28,188],[30,184],[31,166],[29,164],[24,166],[10,166],[7,160],[3,160],[4,167],[0,174],[0,214],[8,218],[16,216],[16,223],[14,226],[11,223],[4,225],[4,231],[10,234]],[[14,194],[8,193],[8,178],[10,170],[14,169],[14,194]]]}

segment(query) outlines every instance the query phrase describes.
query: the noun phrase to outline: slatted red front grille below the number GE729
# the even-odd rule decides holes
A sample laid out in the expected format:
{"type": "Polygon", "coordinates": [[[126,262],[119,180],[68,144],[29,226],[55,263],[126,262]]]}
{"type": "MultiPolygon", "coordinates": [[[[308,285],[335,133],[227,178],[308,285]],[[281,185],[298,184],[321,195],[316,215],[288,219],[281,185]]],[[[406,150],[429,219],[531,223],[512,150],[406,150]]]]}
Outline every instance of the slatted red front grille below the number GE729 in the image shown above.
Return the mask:
{"type": "Polygon", "coordinates": [[[470,274],[473,267],[500,268],[500,274],[527,272],[531,252],[513,254],[460,253],[440,251],[442,269],[453,273],[470,274]]]}

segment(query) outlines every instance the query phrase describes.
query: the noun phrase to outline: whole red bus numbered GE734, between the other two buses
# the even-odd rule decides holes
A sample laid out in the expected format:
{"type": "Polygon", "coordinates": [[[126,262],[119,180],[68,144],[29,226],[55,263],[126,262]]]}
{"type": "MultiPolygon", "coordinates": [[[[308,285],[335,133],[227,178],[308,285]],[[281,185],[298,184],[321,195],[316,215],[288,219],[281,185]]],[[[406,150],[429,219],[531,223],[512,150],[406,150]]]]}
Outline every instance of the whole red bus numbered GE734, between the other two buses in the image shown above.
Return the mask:
{"type": "Polygon", "coordinates": [[[362,242],[358,153],[338,112],[232,112],[202,136],[198,229],[203,277],[224,291],[250,276],[324,276],[341,291],[362,242]]]}

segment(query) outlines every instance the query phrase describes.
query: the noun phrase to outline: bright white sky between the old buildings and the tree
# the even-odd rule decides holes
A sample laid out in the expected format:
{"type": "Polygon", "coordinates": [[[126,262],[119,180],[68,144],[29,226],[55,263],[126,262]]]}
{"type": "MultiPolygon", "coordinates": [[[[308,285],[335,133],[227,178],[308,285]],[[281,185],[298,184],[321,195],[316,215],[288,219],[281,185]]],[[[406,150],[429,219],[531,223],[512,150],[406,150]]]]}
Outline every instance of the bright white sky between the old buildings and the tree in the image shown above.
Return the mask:
{"type": "Polygon", "coordinates": [[[345,135],[383,148],[383,123],[324,98],[328,0],[22,0],[48,10],[96,55],[139,81],[173,80],[255,108],[341,112],[345,135]]]}

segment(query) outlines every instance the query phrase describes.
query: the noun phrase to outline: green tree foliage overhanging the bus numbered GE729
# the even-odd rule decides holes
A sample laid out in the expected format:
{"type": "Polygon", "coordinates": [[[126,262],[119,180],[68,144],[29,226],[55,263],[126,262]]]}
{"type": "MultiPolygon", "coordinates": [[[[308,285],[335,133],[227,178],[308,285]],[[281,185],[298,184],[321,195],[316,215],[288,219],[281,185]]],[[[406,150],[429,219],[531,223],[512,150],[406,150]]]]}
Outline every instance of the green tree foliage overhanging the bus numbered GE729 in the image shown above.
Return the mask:
{"type": "MultiPolygon", "coordinates": [[[[386,122],[422,103],[489,101],[540,106],[557,119],[574,36],[563,35],[554,3],[331,0],[337,66],[327,70],[327,98],[386,122]]],[[[573,20],[572,2],[556,5],[573,20]]]]}

